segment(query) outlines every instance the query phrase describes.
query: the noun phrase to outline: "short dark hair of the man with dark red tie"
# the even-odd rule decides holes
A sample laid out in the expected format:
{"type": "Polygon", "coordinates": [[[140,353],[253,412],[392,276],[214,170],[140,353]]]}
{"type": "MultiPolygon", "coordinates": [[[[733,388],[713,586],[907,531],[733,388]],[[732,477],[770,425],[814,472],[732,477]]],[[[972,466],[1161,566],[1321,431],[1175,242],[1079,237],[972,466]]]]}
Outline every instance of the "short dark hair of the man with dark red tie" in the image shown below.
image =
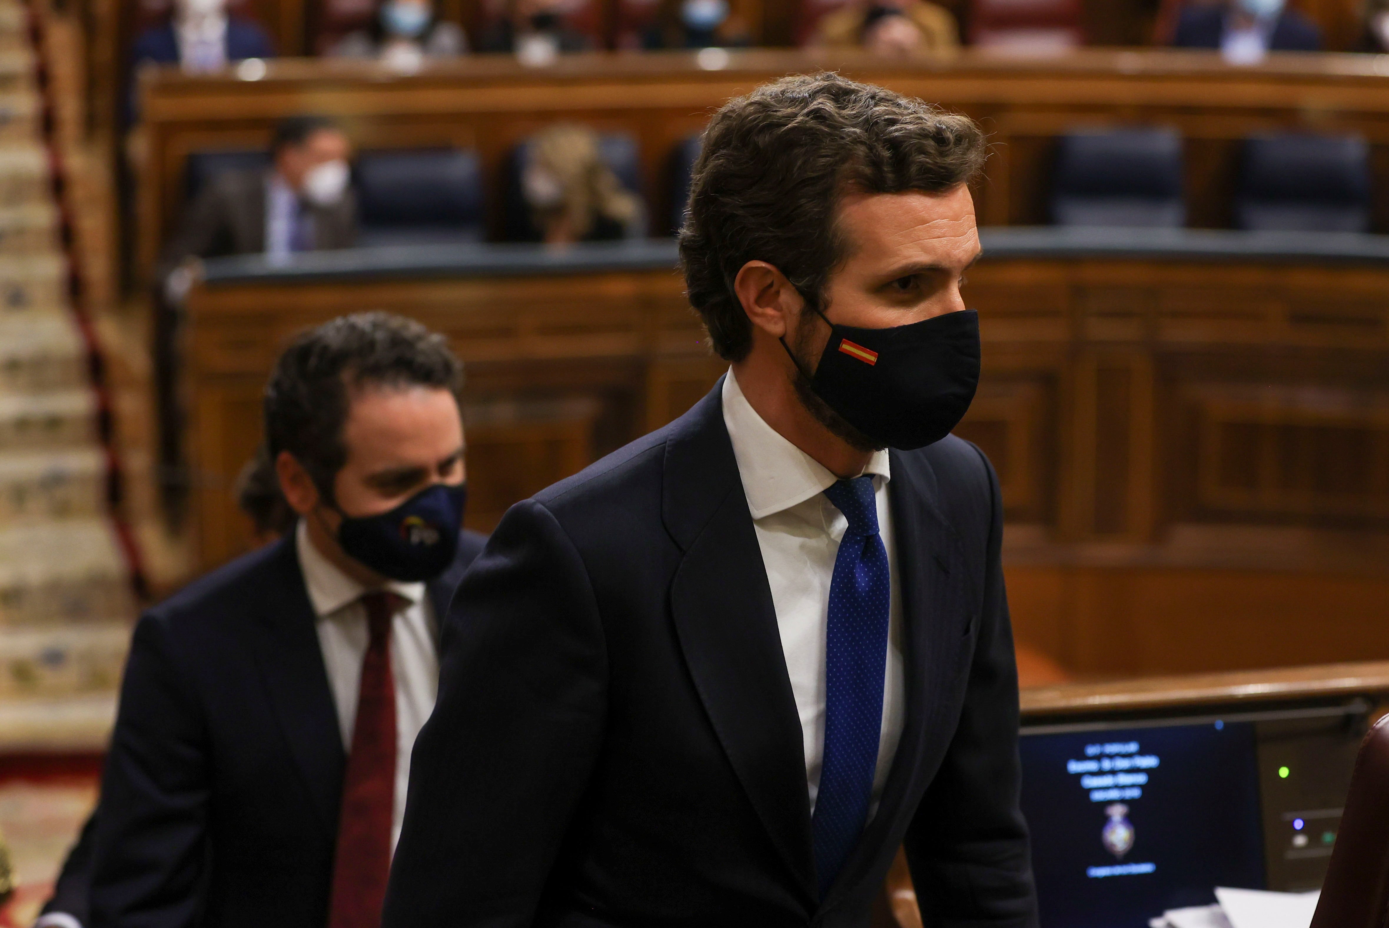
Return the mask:
{"type": "Polygon", "coordinates": [[[364,386],[463,389],[463,363],[442,335],[388,313],[342,315],[296,338],[265,385],[265,450],[294,456],[333,500],[347,463],[343,426],[351,390],[364,386]]]}

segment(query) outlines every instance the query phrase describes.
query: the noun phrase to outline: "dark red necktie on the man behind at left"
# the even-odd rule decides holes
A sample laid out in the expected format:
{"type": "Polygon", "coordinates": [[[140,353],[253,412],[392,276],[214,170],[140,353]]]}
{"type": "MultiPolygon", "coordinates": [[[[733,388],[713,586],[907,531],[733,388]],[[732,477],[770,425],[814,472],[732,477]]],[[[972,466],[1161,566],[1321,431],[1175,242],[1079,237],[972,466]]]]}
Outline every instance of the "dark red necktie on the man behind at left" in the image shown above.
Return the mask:
{"type": "Polygon", "coordinates": [[[361,661],[357,721],[343,778],[338,853],[328,928],[381,928],[390,875],[390,824],[396,803],[396,681],[390,672],[390,620],[401,600],[367,593],[371,642],[361,661]]]}

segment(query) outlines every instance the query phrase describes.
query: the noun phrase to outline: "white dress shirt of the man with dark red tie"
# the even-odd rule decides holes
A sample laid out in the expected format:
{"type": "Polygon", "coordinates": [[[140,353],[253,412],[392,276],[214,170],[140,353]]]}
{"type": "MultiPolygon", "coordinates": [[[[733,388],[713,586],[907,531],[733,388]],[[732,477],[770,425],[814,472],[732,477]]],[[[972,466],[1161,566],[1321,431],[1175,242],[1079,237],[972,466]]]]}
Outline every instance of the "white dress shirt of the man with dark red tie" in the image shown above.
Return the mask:
{"type": "MultiPolygon", "coordinates": [[[[294,545],[308,586],[308,602],[318,617],[314,627],[324,652],[328,686],[338,707],[343,749],[351,753],[361,663],[369,638],[361,596],[369,590],[314,547],[303,520],[294,529],[294,545]]],[[[390,846],[394,849],[406,811],[406,788],[410,785],[410,752],[439,695],[439,653],[435,647],[433,607],[425,585],[392,582],[386,589],[408,603],[396,613],[390,625],[390,672],[396,681],[396,806],[390,817],[390,846]]]]}

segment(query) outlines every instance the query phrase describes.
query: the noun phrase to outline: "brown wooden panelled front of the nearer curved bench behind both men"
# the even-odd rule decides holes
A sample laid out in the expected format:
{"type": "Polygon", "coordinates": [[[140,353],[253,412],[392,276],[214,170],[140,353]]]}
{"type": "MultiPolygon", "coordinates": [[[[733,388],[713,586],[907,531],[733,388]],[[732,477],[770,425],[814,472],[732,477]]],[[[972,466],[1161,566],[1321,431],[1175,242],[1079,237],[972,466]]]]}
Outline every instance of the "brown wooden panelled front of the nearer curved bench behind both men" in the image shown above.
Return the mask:
{"type": "MultiPolygon", "coordinates": [[[[1078,675],[1389,660],[1389,268],[985,257],[958,433],[993,460],[1020,642],[1078,675]],[[1381,295],[1376,301],[1375,295],[1381,295]]],[[[469,525],[683,413],[724,365],[668,271],[194,290],[200,557],[292,332],[385,308],[468,365],[469,525]]]]}

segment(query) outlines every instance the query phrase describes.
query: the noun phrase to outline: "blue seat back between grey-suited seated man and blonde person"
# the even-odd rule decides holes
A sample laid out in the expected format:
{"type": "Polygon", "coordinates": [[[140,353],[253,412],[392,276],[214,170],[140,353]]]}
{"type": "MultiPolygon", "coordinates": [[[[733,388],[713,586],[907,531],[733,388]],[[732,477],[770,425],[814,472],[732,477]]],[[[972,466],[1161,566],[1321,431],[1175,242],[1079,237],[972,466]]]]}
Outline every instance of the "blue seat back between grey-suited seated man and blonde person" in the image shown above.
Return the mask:
{"type": "Polygon", "coordinates": [[[363,151],[353,174],[363,245],[482,239],[482,163],[476,151],[363,151]]]}

